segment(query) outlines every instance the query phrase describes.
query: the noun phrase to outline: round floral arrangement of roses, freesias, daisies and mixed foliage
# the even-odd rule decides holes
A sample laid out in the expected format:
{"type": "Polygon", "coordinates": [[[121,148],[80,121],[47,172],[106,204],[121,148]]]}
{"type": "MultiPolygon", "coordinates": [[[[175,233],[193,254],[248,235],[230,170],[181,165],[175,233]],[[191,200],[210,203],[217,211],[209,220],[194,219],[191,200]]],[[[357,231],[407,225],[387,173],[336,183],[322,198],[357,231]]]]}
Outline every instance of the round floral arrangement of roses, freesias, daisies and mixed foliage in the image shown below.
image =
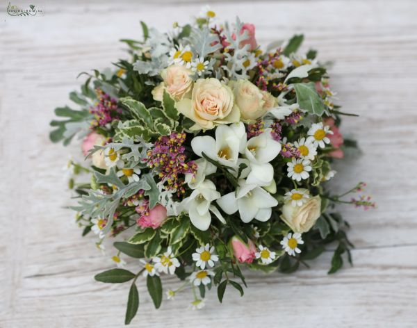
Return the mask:
{"type": "Polygon", "coordinates": [[[211,288],[220,302],[227,287],[243,295],[243,267],[291,273],[334,242],[329,273],[343,254],[351,262],[334,205],[375,204],[345,198],[364,183],[343,195],[326,186],[335,158],[356,147],[338,129],[352,114],[334,104],[316,51],[297,53],[303,36],[263,48],[254,25],[219,24],[209,9],[169,33],[142,28],[143,41],[122,40],[129,60],[83,73],[70,93],[80,108],[56,108],[64,119],[51,122],[54,142],[83,140],[85,161],[68,164],[72,208],[104,254],[116,240],[117,268],[95,279],[129,281],[126,324],[142,277],[156,308],[190,290],[201,309],[211,288]],[[164,274],[182,284],[164,293],[164,274]]]}

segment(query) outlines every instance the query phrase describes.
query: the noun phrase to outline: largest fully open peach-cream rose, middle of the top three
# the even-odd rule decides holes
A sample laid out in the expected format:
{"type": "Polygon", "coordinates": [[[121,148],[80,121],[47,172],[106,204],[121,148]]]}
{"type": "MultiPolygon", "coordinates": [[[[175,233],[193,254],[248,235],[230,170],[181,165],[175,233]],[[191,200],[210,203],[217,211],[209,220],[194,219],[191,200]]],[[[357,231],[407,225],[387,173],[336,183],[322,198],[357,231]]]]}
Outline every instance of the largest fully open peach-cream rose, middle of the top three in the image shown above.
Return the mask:
{"type": "Polygon", "coordinates": [[[239,122],[239,108],[234,104],[234,95],[218,79],[198,79],[191,99],[177,102],[177,110],[195,122],[191,130],[210,130],[217,124],[239,122]]]}

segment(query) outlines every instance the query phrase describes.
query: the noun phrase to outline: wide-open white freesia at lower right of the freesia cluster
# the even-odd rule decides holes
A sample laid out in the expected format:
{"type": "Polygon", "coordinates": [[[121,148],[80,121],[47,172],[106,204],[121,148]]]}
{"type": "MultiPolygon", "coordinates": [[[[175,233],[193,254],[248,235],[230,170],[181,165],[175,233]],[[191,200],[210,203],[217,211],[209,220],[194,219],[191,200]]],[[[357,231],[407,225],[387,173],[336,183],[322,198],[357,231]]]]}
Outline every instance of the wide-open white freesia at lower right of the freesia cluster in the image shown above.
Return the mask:
{"type": "Polygon", "coordinates": [[[271,217],[272,207],[277,206],[277,199],[269,192],[254,184],[247,184],[245,180],[238,181],[236,192],[229,192],[220,197],[217,203],[227,214],[239,211],[240,219],[247,223],[256,220],[265,222],[271,217]]]}

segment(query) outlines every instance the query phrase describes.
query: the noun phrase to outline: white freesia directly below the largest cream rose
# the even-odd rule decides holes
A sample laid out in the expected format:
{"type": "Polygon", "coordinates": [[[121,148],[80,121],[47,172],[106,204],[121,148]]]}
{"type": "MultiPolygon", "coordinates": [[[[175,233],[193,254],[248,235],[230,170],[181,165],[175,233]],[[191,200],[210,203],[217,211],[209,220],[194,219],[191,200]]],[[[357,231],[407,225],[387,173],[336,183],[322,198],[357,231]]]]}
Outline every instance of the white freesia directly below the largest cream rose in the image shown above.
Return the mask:
{"type": "Polygon", "coordinates": [[[215,139],[210,136],[195,137],[191,147],[198,156],[204,153],[220,164],[236,167],[239,152],[244,151],[246,143],[245,125],[242,122],[219,125],[215,130],[215,139]]]}

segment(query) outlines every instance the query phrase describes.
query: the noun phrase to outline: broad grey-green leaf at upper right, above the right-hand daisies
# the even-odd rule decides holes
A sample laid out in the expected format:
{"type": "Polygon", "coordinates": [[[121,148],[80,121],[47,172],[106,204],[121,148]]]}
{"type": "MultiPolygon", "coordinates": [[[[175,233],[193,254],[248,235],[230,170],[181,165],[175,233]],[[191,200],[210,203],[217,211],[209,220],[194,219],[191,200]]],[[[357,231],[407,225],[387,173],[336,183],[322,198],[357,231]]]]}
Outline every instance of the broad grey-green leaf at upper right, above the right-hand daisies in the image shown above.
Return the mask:
{"type": "Polygon", "coordinates": [[[301,109],[318,116],[324,113],[325,104],[323,104],[322,99],[318,95],[313,82],[296,83],[294,89],[297,94],[297,103],[301,109]]]}

